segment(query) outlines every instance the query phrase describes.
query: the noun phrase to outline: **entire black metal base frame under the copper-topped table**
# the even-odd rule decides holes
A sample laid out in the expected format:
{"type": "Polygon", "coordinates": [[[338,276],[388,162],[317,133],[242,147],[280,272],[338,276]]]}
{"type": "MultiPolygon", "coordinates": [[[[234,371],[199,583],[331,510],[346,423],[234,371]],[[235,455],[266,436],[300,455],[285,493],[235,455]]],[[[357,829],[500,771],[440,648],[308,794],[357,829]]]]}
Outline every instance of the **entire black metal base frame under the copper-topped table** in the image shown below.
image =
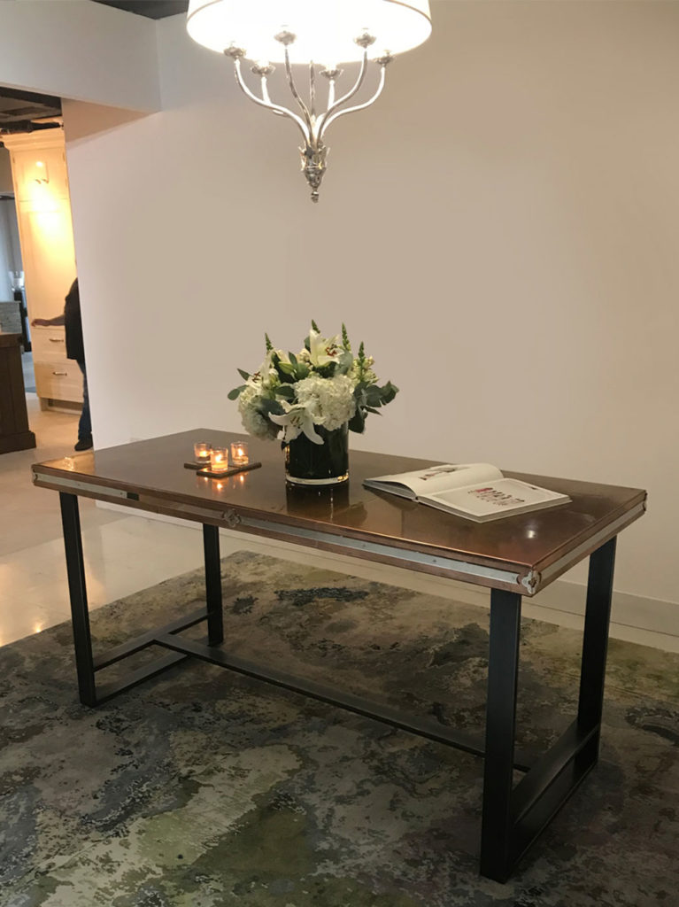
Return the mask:
{"type": "MultiPolygon", "coordinates": [[[[46,478],[46,477],[45,477],[46,478]]],[[[54,479],[48,481],[55,483],[54,479]]],[[[67,482],[57,480],[57,485],[67,482]]],[[[73,482],[73,490],[79,483],[73,482]]],[[[92,486],[91,486],[92,487],[92,486]]],[[[111,493],[111,489],[108,489],[111,493]]],[[[505,882],[520,858],[533,844],[554,814],[573,794],[597,764],[608,624],[613,589],[616,535],[607,538],[590,555],[587,609],[580,670],[577,717],[533,765],[515,751],[516,701],[519,670],[519,633],[522,594],[531,594],[529,585],[521,591],[490,590],[490,648],[485,741],[464,735],[437,722],[409,717],[391,707],[344,694],[312,681],[291,677],[275,668],[257,665],[229,655],[221,648],[221,571],[218,526],[203,522],[206,608],[150,629],[102,655],[94,656],[87,605],[78,499],[71,490],[61,491],[63,538],[73,617],[73,639],[78,688],[83,704],[97,706],[121,692],[152,678],[186,658],[200,658],[249,678],[300,693],[354,714],[381,721],[392,727],[426,737],[437,743],[462,749],[485,760],[480,842],[480,873],[505,882]],[[207,624],[207,639],[196,641],[181,631],[200,622],[207,624]],[[97,674],[141,649],[159,646],[166,654],[124,678],[99,685],[97,674]],[[514,784],[514,772],[524,773],[514,784]]],[[[236,512],[224,512],[223,522],[236,526],[236,512]]],[[[214,511],[212,512],[214,517],[214,511]]],[[[195,519],[195,516],[194,516],[195,519]]],[[[243,521],[245,522],[245,521],[243,521]]],[[[250,521],[252,522],[252,521],[250,521]]],[[[628,522],[628,520],[626,520],[628,522]]],[[[276,524],[279,528],[279,524],[276,524]]],[[[242,528],[242,527],[241,527],[242,528]]],[[[299,534],[296,530],[291,534],[299,534]]],[[[308,532],[308,531],[307,531],[308,532]]],[[[403,551],[406,555],[412,552],[403,551]]],[[[520,588],[520,586],[519,586],[520,588]]]]}

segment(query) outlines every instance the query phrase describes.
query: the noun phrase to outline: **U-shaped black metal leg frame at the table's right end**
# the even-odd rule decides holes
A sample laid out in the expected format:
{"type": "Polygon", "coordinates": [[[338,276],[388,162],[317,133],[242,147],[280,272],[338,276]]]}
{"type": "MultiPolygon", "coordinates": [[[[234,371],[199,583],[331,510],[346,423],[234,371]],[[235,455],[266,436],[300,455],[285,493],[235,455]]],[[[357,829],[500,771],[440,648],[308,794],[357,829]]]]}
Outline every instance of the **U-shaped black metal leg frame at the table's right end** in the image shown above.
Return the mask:
{"type": "MultiPolygon", "coordinates": [[[[597,765],[616,539],[590,557],[577,719],[513,784],[520,596],[493,590],[480,873],[505,882],[597,765]]],[[[515,767],[515,766],[514,766],[515,767]]]]}

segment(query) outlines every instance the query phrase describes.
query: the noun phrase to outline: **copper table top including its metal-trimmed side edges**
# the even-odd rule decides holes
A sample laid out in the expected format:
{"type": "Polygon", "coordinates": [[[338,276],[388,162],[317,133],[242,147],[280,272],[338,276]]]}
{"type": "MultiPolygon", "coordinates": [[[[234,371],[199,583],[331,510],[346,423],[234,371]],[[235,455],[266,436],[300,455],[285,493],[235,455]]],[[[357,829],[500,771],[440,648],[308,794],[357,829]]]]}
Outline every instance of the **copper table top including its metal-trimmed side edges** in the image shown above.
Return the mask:
{"type": "Polygon", "coordinates": [[[55,491],[167,513],[326,551],[533,595],[645,510],[645,492],[526,473],[505,473],[572,502],[494,522],[470,522],[393,494],[365,478],[430,460],[351,451],[350,479],[318,490],[285,481],[280,444],[198,428],[34,464],[34,483],[55,491]],[[262,467],[226,479],[184,467],[193,443],[247,440],[262,467]],[[471,571],[471,572],[470,572],[471,571]]]}

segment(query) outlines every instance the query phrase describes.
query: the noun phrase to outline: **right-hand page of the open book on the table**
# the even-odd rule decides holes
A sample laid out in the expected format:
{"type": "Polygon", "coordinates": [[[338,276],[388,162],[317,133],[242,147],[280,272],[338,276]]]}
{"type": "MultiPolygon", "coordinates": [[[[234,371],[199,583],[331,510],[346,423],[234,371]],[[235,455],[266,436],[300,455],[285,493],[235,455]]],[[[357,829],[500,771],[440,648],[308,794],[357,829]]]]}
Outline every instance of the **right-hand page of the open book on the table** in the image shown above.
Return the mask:
{"type": "Polygon", "coordinates": [[[502,479],[500,482],[474,483],[467,488],[442,491],[422,498],[440,507],[462,515],[482,518],[538,510],[546,503],[568,501],[566,494],[549,492],[546,488],[520,482],[519,479],[502,479]]]}

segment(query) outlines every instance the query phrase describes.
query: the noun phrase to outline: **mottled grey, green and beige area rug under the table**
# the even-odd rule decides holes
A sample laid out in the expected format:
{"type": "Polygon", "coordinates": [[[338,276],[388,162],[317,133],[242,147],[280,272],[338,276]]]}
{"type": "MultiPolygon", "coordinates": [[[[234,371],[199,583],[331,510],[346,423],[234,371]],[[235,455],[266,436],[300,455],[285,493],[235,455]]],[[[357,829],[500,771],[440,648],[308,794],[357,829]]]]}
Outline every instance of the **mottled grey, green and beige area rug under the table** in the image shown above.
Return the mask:
{"type": "MultiPolygon", "coordinates": [[[[94,611],[93,635],[111,646],[203,595],[200,571],[168,580],[94,611]]],[[[224,560],[224,595],[242,657],[482,728],[486,610],[247,552],[224,560]]],[[[579,646],[524,621],[525,749],[574,715],[579,646]]],[[[197,661],[90,709],[70,625],[6,646],[0,904],[670,907],[679,657],[610,649],[601,762],[501,885],[477,868],[480,758],[197,661]]]]}

